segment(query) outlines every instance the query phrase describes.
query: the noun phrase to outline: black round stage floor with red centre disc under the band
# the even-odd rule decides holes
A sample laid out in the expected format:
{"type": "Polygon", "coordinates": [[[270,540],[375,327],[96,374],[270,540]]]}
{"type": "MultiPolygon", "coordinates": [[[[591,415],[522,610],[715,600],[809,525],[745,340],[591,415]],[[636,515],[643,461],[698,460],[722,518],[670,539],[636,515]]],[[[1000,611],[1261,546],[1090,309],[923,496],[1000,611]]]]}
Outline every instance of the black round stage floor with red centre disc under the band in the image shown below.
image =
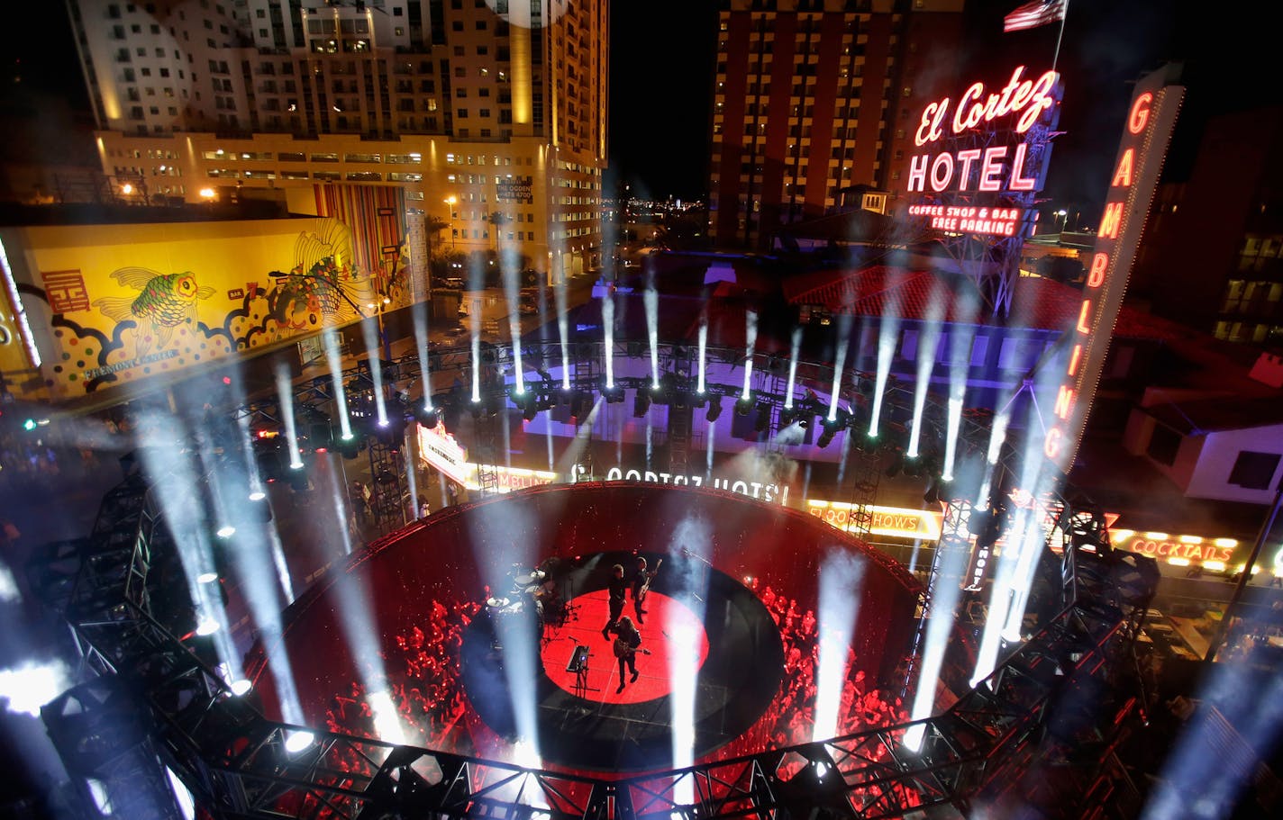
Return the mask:
{"type": "MultiPolygon", "coordinates": [[[[672,565],[661,568],[639,628],[636,680],[629,669],[621,678],[615,638],[606,638],[602,628],[609,621],[611,566],[631,564],[631,557],[582,556],[582,566],[562,574],[557,583],[570,591],[571,612],[563,624],[545,623],[541,637],[539,619],[526,611],[488,607],[472,621],[463,636],[463,689],[488,726],[503,735],[521,733],[516,711],[525,688],[534,693],[545,761],[635,770],[672,762],[675,698],[683,680],[694,682],[686,694],[694,698],[697,756],[739,737],[762,716],[784,670],[779,629],[757,596],[694,557],[668,556],[672,565]],[[666,578],[689,579],[693,573],[702,586],[699,598],[689,589],[684,601],[662,593],[666,578]],[[512,650],[522,637],[540,646],[532,680],[513,674],[512,650]],[[579,647],[588,650],[582,678],[570,670],[579,647]]],[[[663,556],[648,557],[654,565],[663,556]]],[[[627,609],[635,620],[631,602],[627,609]]]]}

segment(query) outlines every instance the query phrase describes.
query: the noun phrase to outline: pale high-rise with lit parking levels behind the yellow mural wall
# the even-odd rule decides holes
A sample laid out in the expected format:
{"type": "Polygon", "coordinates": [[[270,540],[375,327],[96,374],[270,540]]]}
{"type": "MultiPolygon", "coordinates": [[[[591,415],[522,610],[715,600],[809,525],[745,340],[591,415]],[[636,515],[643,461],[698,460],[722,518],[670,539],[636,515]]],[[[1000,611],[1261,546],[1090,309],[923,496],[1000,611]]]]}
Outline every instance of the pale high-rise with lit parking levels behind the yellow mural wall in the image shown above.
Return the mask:
{"type": "Polygon", "coordinates": [[[103,168],[131,196],[309,210],[313,186],[396,186],[459,250],[591,264],[606,0],[68,5],[103,168]]]}

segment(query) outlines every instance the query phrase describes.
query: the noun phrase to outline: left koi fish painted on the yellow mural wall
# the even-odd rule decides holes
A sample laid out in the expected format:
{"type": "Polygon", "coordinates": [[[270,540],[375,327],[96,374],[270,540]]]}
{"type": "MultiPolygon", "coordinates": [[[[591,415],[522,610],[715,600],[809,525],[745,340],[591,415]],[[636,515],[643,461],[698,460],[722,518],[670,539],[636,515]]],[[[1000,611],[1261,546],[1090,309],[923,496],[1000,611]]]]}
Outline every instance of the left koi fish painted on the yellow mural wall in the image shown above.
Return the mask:
{"type": "Polygon", "coordinates": [[[137,356],[151,350],[153,340],[159,342],[158,347],[168,345],[176,327],[196,322],[198,300],[214,295],[214,288],[199,286],[190,270],[164,274],[148,268],[119,268],[112,272],[112,278],[140,291],[139,296],[104,296],[94,300],[94,306],[114,322],[132,319],[137,324],[137,356]]]}

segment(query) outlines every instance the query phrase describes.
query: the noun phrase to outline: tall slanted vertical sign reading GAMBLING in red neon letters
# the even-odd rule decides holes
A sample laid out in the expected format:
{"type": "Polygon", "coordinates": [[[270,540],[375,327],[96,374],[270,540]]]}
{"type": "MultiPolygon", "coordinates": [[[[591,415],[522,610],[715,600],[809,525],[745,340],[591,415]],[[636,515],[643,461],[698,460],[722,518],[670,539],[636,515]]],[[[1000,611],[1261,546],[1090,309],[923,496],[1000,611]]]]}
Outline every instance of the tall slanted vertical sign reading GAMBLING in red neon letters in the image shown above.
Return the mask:
{"type": "Polygon", "coordinates": [[[1168,67],[1146,76],[1137,83],[1128,109],[1078,322],[1067,331],[1071,334],[1069,363],[1056,393],[1055,418],[1043,442],[1047,457],[1061,469],[1073,461],[1087,424],[1184,97],[1184,87],[1169,83],[1173,70],[1168,67]]]}

